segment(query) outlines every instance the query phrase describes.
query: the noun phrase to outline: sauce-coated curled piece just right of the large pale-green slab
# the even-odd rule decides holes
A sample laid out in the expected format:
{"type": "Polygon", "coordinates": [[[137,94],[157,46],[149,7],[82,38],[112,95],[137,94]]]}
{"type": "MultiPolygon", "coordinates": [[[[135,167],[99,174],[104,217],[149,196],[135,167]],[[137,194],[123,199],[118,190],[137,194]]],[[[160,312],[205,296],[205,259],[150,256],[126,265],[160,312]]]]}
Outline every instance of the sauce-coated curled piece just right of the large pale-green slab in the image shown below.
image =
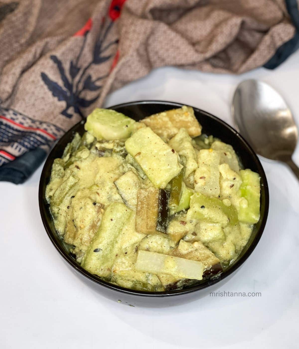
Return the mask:
{"type": "Polygon", "coordinates": [[[197,169],[196,153],[192,146],[192,138],[189,136],[186,128],[180,128],[179,132],[168,142],[169,146],[182,155],[186,159],[185,175],[187,178],[189,174],[197,169]]]}

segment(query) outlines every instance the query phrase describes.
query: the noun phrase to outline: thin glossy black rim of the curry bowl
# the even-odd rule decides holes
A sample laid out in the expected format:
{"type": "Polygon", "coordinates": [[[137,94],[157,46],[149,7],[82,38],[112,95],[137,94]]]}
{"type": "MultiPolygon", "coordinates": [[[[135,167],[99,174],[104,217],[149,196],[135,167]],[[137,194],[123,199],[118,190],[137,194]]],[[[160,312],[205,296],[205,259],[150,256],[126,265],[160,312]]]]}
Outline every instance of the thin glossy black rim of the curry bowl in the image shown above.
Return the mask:
{"type": "MultiPolygon", "coordinates": [[[[164,104],[164,105],[169,105],[169,106],[174,106],[174,107],[181,107],[183,105],[186,105],[186,104],[177,103],[177,102],[146,100],[146,101],[134,101],[134,102],[127,102],[127,103],[120,103],[120,104],[112,105],[112,106],[108,107],[108,109],[115,109],[115,108],[119,108],[119,107],[129,107],[129,106],[136,105],[136,104],[137,105],[138,104],[162,104],[162,105],[164,104]]],[[[200,284],[188,287],[186,289],[181,289],[181,290],[155,291],[155,292],[132,290],[132,289],[124,288],[124,287],[109,283],[107,281],[101,280],[98,276],[91,274],[87,270],[83,269],[79,264],[77,264],[77,262],[74,259],[72,259],[72,257],[70,257],[70,255],[67,253],[67,251],[64,250],[63,248],[61,248],[60,245],[57,243],[56,238],[54,237],[54,234],[57,234],[57,232],[56,231],[53,232],[51,227],[49,226],[49,224],[47,222],[46,209],[48,209],[48,206],[45,207],[45,205],[44,205],[45,193],[43,192],[43,184],[44,184],[44,180],[45,180],[46,175],[47,175],[47,173],[46,173],[47,163],[50,161],[50,158],[52,157],[52,155],[56,152],[56,149],[59,146],[59,144],[62,142],[62,140],[65,138],[68,138],[70,135],[72,135],[73,130],[76,129],[79,124],[82,124],[85,121],[85,120],[81,120],[81,121],[77,122],[72,128],[70,128],[55,143],[51,152],[48,154],[46,161],[44,163],[44,166],[43,166],[42,173],[40,175],[38,199],[39,199],[39,210],[40,210],[42,222],[43,222],[44,228],[45,228],[47,235],[50,238],[52,244],[55,246],[55,248],[57,249],[59,254],[63,257],[63,259],[65,259],[67,261],[67,263],[70,266],[72,266],[80,274],[87,277],[87,279],[89,279],[90,281],[97,283],[106,289],[117,291],[121,294],[127,294],[127,295],[139,296],[139,297],[141,296],[141,297],[150,297],[150,298],[161,298],[161,297],[170,297],[170,296],[189,294],[189,293],[193,293],[193,292],[205,289],[211,285],[214,285],[215,283],[220,282],[221,280],[225,279],[227,276],[234,273],[247,260],[247,258],[251,255],[251,253],[255,249],[256,245],[258,244],[258,242],[262,236],[262,233],[264,231],[264,228],[266,226],[268,211],[269,211],[269,189],[268,189],[268,182],[267,182],[267,178],[266,178],[266,174],[264,172],[263,166],[262,166],[259,158],[255,154],[254,150],[252,149],[252,147],[239,134],[239,132],[237,132],[233,127],[231,127],[225,121],[219,119],[218,117],[214,116],[213,114],[211,114],[209,112],[206,112],[206,111],[201,110],[201,109],[196,108],[196,107],[193,107],[193,109],[196,112],[199,112],[199,113],[204,114],[205,116],[207,116],[209,118],[214,119],[215,121],[220,123],[224,128],[228,128],[231,132],[233,132],[242,141],[242,143],[244,143],[244,145],[247,148],[247,151],[250,153],[250,155],[254,158],[255,162],[259,166],[259,174],[263,180],[263,189],[264,189],[264,196],[265,196],[265,209],[264,209],[264,215],[262,217],[261,226],[260,226],[259,230],[256,232],[256,236],[255,236],[254,240],[248,246],[247,251],[240,257],[240,259],[237,260],[227,271],[220,274],[217,278],[207,279],[206,281],[204,281],[200,284]]]]}

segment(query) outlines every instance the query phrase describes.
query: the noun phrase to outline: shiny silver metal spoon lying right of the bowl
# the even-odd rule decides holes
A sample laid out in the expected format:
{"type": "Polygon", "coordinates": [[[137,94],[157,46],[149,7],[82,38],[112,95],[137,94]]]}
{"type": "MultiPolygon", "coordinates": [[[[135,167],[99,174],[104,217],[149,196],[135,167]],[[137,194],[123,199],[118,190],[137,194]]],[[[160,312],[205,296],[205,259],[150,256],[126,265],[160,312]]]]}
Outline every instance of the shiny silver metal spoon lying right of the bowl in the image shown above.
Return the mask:
{"type": "Polygon", "coordinates": [[[299,168],[292,160],[298,129],[277,91],[261,81],[241,82],[234,93],[232,114],[257,154],[286,163],[299,179],[299,168]]]}

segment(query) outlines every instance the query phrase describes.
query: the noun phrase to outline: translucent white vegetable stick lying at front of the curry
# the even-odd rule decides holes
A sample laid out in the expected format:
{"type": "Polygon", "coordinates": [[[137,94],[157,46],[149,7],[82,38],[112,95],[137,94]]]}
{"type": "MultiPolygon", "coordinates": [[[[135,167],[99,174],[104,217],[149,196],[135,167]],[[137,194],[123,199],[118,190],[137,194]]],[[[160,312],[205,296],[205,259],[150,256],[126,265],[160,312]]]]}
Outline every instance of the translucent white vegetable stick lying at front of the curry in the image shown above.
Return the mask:
{"type": "Polygon", "coordinates": [[[138,252],[135,267],[143,272],[165,273],[175,277],[195,280],[202,280],[203,274],[202,262],[148,251],[138,252]]]}

